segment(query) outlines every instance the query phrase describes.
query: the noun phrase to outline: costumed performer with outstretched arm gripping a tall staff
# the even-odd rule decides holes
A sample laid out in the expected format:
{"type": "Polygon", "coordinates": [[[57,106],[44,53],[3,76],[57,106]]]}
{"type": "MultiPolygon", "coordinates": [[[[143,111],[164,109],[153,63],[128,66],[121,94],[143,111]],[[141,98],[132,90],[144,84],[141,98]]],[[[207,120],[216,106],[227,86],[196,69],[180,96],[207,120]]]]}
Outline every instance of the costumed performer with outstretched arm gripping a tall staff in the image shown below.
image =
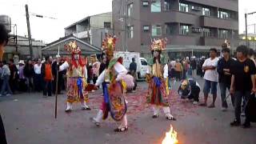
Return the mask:
{"type": "Polygon", "coordinates": [[[72,55],[69,62],[66,61],[59,66],[59,71],[66,70],[67,75],[66,112],[71,112],[74,102],[81,102],[82,110],[90,110],[86,105],[88,102],[87,70],[86,64],[82,62],[81,49],[75,41],[65,45],[65,49],[72,55]]]}

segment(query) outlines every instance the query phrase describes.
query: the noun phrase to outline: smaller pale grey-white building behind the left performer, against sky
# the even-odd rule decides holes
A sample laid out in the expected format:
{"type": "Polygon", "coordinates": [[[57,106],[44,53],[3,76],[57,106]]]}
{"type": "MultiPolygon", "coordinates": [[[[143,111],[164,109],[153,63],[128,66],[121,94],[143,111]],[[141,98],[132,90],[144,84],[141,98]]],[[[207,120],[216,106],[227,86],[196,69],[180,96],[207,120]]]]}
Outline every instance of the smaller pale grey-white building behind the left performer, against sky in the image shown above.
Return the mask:
{"type": "Polygon", "coordinates": [[[105,33],[112,33],[112,13],[92,15],[65,28],[65,36],[73,34],[75,37],[101,47],[105,33]]]}

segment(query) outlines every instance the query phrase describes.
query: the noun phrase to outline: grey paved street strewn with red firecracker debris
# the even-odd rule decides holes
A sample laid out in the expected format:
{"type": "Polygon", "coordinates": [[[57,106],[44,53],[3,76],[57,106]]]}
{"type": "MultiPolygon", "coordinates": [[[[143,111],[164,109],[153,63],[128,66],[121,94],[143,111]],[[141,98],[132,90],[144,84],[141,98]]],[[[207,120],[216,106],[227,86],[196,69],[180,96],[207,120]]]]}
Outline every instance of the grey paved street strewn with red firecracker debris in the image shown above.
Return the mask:
{"type": "MultiPolygon", "coordinates": [[[[202,79],[198,82],[202,87],[202,79]]],[[[176,85],[176,87],[178,84],[176,85]]],[[[74,106],[71,114],[64,112],[65,94],[58,96],[58,118],[54,119],[54,97],[42,98],[42,94],[17,94],[0,98],[0,110],[10,144],[160,144],[170,124],[178,132],[182,144],[254,144],[256,125],[248,130],[231,128],[234,110],[220,110],[220,97],[214,109],[193,106],[178,98],[176,90],[170,95],[171,113],[178,119],[166,121],[164,115],[152,119],[150,106],[145,103],[146,82],[138,83],[134,94],[127,94],[129,130],[114,133],[117,124],[108,118],[101,127],[90,123],[100,106],[102,90],[90,94],[93,110],[82,111],[74,106]]],[[[218,90],[219,94],[219,90],[218,90]]],[[[202,98],[202,93],[200,94],[202,98]]],[[[210,97],[211,99],[211,97],[210,97]]],[[[210,102],[209,102],[210,103],[210,102]]],[[[229,100],[230,103],[230,100],[229,100]]]]}

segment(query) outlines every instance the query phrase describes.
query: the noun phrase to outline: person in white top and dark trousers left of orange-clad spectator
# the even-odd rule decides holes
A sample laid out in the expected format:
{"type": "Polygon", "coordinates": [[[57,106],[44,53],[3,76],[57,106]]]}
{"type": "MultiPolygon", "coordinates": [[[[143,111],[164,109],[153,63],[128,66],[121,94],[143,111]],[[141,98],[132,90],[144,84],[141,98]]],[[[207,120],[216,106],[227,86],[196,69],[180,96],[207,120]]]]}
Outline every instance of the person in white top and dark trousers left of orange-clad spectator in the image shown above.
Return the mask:
{"type": "Polygon", "coordinates": [[[36,91],[40,92],[42,90],[42,62],[38,58],[38,62],[34,65],[34,88],[36,91]]]}

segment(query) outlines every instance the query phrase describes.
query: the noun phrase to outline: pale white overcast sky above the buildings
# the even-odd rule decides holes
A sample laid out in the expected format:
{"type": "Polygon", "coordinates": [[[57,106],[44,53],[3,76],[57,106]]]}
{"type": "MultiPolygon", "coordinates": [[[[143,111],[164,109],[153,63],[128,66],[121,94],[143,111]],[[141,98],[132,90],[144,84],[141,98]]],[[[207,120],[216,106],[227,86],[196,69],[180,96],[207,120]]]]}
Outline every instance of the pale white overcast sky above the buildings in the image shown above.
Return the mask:
{"type": "MultiPolygon", "coordinates": [[[[53,42],[64,37],[64,28],[82,18],[112,10],[112,0],[0,0],[0,15],[9,15],[17,24],[18,35],[27,35],[25,4],[29,12],[51,18],[30,15],[32,38],[53,42]],[[53,19],[56,18],[56,19],[53,19]]],[[[256,0],[239,0],[239,33],[245,31],[245,12],[256,11],[256,0]]],[[[248,25],[256,23],[256,14],[248,16],[248,25]]],[[[248,26],[254,32],[254,26],[248,26]]]]}

